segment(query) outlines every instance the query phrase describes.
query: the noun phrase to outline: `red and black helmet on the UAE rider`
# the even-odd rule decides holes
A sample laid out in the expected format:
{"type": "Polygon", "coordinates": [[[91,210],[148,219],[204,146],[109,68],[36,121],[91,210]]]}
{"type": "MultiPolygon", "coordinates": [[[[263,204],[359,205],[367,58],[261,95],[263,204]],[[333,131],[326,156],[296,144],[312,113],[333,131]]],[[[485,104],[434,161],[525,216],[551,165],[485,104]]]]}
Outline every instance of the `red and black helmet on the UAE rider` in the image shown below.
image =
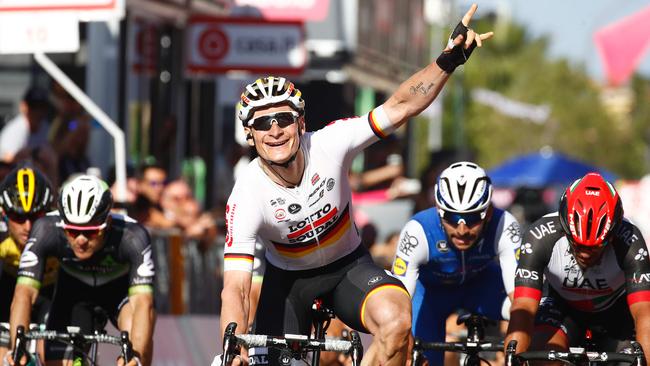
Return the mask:
{"type": "Polygon", "coordinates": [[[607,242],[623,220],[621,198],[598,173],[571,184],[560,199],[560,223],[572,242],[599,246],[607,242]]]}

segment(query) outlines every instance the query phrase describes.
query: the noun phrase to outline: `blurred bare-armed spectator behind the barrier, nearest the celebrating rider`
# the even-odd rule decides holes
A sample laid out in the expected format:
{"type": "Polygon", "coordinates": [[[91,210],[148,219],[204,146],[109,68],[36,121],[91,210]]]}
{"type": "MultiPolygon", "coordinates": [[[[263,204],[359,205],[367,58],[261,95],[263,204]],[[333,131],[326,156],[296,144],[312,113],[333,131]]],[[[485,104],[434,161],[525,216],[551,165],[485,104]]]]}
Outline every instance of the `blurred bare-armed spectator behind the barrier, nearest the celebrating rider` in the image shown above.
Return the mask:
{"type": "Polygon", "coordinates": [[[214,243],[215,218],[201,212],[187,182],[180,179],[170,182],[162,192],[160,206],[165,218],[180,228],[186,238],[197,240],[203,249],[214,243]]]}

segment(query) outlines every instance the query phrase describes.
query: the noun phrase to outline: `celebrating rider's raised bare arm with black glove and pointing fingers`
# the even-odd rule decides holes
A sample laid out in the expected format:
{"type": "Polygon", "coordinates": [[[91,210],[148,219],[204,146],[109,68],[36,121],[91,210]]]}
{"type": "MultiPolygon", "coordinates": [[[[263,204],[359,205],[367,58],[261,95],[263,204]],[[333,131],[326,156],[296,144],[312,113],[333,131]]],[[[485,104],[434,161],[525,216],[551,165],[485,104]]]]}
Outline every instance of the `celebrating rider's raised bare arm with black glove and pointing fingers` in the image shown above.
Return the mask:
{"type": "Polygon", "coordinates": [[[418,115],[438,96],[457,66],[464,64],[476,46],[492,37],[493,33],[476,34],[468,28],[478,6],[472,4],[462,21],[451,34],[449,43],[436,62],[412,75],[384,103],[383,107],[395,128],[418,115]]]}

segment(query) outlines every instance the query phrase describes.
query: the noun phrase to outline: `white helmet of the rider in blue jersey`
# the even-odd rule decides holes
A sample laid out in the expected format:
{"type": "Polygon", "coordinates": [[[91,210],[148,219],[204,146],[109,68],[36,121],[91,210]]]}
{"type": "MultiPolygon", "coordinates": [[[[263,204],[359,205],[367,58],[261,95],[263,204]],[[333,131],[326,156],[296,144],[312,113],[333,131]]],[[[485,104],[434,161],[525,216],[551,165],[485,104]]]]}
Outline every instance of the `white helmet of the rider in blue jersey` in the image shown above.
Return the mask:
{"type": "Polygon", "coordinates": [[[467,161],[451,164],[438,177],[436,204],[444,211],[485,211],[492,198],[492,182],[480,166],[467,161]]]}

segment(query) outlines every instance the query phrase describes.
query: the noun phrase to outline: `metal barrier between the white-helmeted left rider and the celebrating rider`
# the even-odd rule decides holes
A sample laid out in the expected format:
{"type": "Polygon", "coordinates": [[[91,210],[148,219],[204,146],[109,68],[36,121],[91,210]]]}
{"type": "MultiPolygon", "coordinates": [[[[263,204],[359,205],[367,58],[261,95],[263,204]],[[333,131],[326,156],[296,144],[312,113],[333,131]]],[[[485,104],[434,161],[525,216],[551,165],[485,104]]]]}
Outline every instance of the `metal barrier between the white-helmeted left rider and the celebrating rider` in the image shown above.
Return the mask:
{"type": "Polygon", "coordinates": [[[223,244],[188,240],[180,230],[150,229],[156,265],[155,304],[159,314],[219,314],[223,287],[223,244]]]}

